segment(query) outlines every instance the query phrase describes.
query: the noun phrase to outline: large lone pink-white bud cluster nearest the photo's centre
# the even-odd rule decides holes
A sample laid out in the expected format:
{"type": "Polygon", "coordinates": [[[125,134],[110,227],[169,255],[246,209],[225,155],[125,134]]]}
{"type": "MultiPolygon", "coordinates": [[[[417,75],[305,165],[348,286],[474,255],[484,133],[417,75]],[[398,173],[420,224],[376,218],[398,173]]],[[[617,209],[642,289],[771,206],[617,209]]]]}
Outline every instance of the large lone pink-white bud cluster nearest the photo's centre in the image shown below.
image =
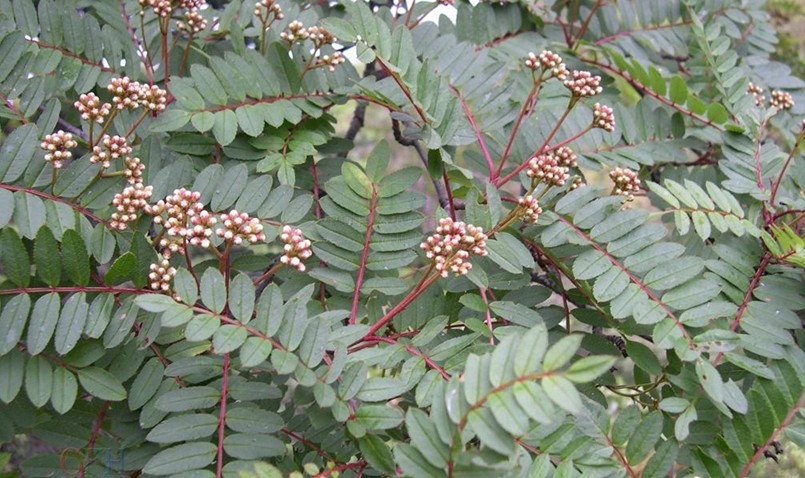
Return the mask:
{"type": "Polygon", "coordinates": [[[480,227],[444,218],[439,220],[436,233],[419,247],[425,251],[428,259],[433,260],[435,269],[442,277],[447,277],[450,272],[466,275],[472,269],[470,255],[487,255],[487,239],[480,227]]]}

